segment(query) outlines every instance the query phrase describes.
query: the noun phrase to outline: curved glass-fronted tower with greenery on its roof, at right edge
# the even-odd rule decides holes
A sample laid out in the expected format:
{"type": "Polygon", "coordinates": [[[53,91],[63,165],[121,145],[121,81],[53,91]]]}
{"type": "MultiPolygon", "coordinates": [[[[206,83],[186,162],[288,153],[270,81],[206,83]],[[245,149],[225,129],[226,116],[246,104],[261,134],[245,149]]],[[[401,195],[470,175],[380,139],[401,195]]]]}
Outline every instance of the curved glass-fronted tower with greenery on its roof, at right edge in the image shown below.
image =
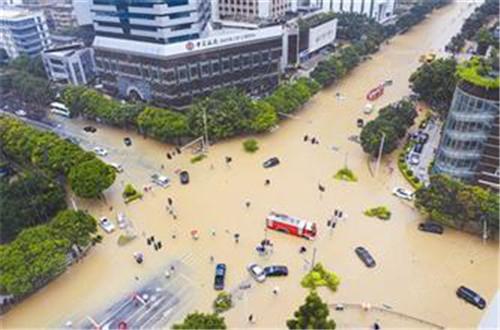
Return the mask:
{"type": "Polygon", "coordinates": [[[459,67],[459,82],[437,150],[434,171],[496,191],[500,186],[499,77],[478,58],[459,67]]]}

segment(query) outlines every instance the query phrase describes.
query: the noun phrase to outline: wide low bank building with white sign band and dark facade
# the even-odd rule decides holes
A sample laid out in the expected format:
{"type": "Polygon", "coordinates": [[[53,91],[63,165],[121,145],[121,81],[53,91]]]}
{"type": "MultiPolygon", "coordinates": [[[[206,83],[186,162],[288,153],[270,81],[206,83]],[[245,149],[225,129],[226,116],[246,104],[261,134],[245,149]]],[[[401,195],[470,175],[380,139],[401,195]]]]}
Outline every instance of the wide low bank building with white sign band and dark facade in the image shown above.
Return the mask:
{"type": "Polygon", "coordinates": [[[168,45],[97,36],[97,72],[105,90],[182,109],[223,87],[262,96],[283,69],[283,30],[221,31],[168,45]]]}

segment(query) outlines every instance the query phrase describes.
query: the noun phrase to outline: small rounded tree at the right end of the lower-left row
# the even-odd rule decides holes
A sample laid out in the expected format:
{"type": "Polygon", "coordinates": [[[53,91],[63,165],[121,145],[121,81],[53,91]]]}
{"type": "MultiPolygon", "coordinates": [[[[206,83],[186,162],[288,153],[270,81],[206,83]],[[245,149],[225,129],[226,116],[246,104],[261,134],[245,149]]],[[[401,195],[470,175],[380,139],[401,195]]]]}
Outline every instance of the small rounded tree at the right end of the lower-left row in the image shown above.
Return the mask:
{"type": "Polygon", "coordinates": [[[97,233],[97,222],[83,211],[59,212],[50,222],[54,237],[68,240],[79,249],[89,245],[97,233]]]}

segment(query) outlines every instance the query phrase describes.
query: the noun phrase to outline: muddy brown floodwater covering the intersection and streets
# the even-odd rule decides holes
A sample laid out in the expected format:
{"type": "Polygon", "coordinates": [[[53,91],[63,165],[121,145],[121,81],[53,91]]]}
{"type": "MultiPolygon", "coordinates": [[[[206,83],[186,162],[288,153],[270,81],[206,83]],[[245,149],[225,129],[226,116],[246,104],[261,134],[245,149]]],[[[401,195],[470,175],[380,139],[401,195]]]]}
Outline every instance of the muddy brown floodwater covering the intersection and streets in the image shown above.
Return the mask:
{"type": "MultiPolygon", "coordinates": [[[[453,230],[447,230],[443,236],[419,232],[416,227],[421,215],[411,204],[391,195],[394,186],[409,188],[397,171],[389,173],[388,166],[390,163],[395,166],[394,160],[385,160],[379,176],[373,178],[361,147],[348,139],[359,134],[356,118],[375,116],[362,114],[367,91],[385,79],[394,81],[375,102],[378,107],[407,95],[408,77],[419,65],[419,56],[429,51],[441,52],[472,10],[470,2],[454,3],[436,11],[405,35],[392,39],[340,84],[320,92],[296,119],[282,122],[272,134],[257,137],[260,149],[255,154],[244,153],[243,140],[234,139],[213,146],[208,158],[197,164],[189,162],[192,155],[187,153],[167,160],[168,146],[134,133],[98,126],[95,135],[88,135],[81,131],[85,123],[65,122],[67,130],[109,148],[107,158],[125,168],[106,192],[106,203],[77,201],[78,206],[96,217],[107,215],[113,219],[115,212],[124,211],[133,220],[139,238],[119,247],[116,243],[119,233],[104,234],[104,242],[83,262],[5,315],[2,327],[57,327],[67,320],[95,313],[133,291],[145,279],[161,274],[165,264],[173,259],[181,259],[193,269],[189,275],[193,298],[177,318],[195,309],[210,311],[216,296],[210,256],[227,264],[226,285],[230,289],[248,278],[245,267],[250,262],[288,265],[287,278],[254,284],[244,295],[238,294],[235,307],[224,314],[230,327],[248,327],[250,313],[256,319],[253,327],[284,327],[307,293],[299,282],[314,248],[316,260],[338,273],[342,280],[336,293],[321,290],[328,303],[385,304],[394,311],[442,326],[476,327],[482,312],[457,299],[455,290],[459,285],[467,285],[487,300],[493,297],[498,288],[497,244],[483,243],[477,237],[453,230]],[[345,98],[337,100],[337,91],[345,98]],[[320,144],[304,143],[304,134],[316,136],[320,144]],[[130,148],[123,145],[125,135],[133,139],[130,148]],[[233,158],[230,167],[224,163],[225,156],[233,158]],[[270,156],[278,156],[281,165],[265,170],[262,161],[270,156]],[[346,159],[358,176],[357,183],[332,178],[346,159]],[[163,172],[174,179],[173,185],[167,189],[154,188],[142,201],[125,206],[120,197],[124,183],[142,187],[162,164],[163,172]],[[189,170],[189,185],[179,184],[174,174],[179,168],[189,170]],[[271,180],[269,186],[264,186],[266,179],[271,180]],[[322,195],[319,183],[326,188],[322,195]],[[167,197],[173,198],[177,220],[165,212],[167,197]],[[246,200],[251,201],[249,208],[245,207],[246,200]],[[114,207],[112,212],[110,205],[114,207]],[[363,215],[365,209],[378,205],[390,208],[393,214],[390,221],[363,215]],[[326,219],[339,207],[348,214],[348,219],[330,232],[326,219]],[[259,257],[255,246],[265,235],[264,219],[270,210],[316,221],[318,239],[307,242],[268,232],[267,237],[274,242],[274,253],[259,257]],[[198,241],[190,238],[192,229],[200,232],[198,241]],[[211,230],[216,231],[215,237],[210,235],[211,230]],[[241,235],[239,244],[233,241],[236,232],[241,235]],[[148,248],[143,233],[162,240],[161,252],[148,248]],[[172,235],[177,238],[172,239],[172,235]],[[298,253],[302,245],[308,248],[304,256],[298,253]],[[356,257],[354,248],[359,245],[372,253],[376,268],[366,268],[356,257]],[[141,266],[132,258],[135,251],[145,254],[141,266]],[[136,281],[135,276],[140,280],[136,281]],[[275,286],[280,288],[277,296],[272,294],[275,286]]],[[[334,317],[341,327],[366,328],[376,319],[386,327],[426,327],[375,311],[350,309],[335,312],[334,317]]]]}

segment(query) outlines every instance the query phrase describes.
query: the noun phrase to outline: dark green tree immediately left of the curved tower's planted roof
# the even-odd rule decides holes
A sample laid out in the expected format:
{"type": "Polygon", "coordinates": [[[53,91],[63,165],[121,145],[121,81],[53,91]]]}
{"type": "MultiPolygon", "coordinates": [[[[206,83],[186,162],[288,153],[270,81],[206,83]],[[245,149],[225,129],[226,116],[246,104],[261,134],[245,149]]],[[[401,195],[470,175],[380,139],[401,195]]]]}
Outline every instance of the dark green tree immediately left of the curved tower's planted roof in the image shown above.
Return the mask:
{"type": "Polygon", "coordinates": [[[410,76],[410,87],[421,100],[435,108],[444,118],[457,84],[457,62],[453,58],[423,64],[410,76]]]}

